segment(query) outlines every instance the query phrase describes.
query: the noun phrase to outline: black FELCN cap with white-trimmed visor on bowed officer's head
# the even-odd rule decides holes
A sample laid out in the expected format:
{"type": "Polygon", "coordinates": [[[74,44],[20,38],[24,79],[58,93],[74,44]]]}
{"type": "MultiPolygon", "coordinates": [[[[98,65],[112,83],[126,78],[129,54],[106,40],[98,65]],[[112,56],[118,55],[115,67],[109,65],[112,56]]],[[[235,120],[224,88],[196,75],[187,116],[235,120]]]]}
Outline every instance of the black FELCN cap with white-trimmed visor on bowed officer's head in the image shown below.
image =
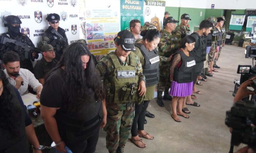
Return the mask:
{"type": "Polygon", "coordinates": [[[120,43],[124,51],[134,51],[134,35],[128,30],[122,30],[118,32],[117,37],[115,37],[115,42],[120,43]]]}

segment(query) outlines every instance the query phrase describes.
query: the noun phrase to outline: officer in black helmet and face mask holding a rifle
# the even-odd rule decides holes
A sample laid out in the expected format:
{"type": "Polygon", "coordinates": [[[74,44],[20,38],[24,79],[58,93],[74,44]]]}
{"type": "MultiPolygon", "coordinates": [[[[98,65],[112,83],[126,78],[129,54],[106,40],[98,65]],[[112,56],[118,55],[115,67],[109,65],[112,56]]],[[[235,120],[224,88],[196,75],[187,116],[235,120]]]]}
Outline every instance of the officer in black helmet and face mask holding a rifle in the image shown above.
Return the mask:
{"type": "MultiPolygon", "coordinates": [[[[15,15],[9,15],[4,20],[4,26],[8,28],[8,32],[2,34],[0,36],[0,40],[2,37],[7,37],[9,39],[14,39],[19,42],[23,42],[24,44],[29,45],[30,47],[35,47],[32,41],[29,39],[29,37],[26,34],[21,34],[21,20],[19,17],[15,15]]],[[[5,43],[0,44],[0,59],[2,59],[2,56],[5,52],[8,51],[14,51],[18,53],[18,55],[21,58],[20,65],[21,68],[28,69],[29,71],[33,72],[33,65],[31,62],[31,59],[34,60],[35,58],[38,58],[38,53],[32,53],[30,59],[25,58],[25,51],[20,46],[15,45],[13,43],[5,43]]]]}

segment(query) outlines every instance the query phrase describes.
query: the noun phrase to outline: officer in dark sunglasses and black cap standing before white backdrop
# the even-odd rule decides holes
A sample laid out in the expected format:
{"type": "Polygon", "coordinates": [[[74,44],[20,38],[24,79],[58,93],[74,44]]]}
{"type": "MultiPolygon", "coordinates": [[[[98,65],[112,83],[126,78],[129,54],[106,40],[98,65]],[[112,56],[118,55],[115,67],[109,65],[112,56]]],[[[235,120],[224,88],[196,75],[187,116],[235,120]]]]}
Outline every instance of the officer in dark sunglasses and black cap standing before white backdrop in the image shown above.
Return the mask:
{"type": "Polygon", "coordinates": [[[68,38],[65,34],[65,30],[59,27],[60,15],[51,13],[47,16],[47,21],[50,26],[43,34],[43,44],[51,44],[55,47],[56,59],[60,60],[63,50],[68,47],[68,38]]]}

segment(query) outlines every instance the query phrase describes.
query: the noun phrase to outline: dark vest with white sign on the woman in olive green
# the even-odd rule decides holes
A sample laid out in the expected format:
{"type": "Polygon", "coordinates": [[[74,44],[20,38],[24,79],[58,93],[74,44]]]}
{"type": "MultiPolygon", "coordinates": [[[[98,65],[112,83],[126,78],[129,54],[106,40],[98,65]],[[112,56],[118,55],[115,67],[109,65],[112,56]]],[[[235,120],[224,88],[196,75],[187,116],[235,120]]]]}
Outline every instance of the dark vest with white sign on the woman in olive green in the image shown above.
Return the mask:
{"type": "Polygon", "coordinates": [[[148,51],[141,43],[136,43],[136,47],[141,50],[145,59],[145,64],[142,67],[143,74],[146,77],[146,86],[156,85],[159,81],[159,55],[157,49],[148,51]]]}

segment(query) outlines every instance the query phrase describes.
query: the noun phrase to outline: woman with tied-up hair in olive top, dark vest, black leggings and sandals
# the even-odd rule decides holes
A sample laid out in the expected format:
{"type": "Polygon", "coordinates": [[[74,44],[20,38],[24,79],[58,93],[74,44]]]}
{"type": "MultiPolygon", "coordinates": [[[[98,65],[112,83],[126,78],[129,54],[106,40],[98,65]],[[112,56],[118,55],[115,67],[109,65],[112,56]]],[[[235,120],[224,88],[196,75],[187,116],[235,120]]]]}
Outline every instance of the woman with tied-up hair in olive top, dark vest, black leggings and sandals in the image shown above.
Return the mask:
{"type": "Polygon", "coordinates": [[[146,95],[141,103],[135,104],[135,116],[132,123],[132,141],[139,148],[145,148],[146,144],[140,137],[153,139],[154,137],[144,130],[145,112],[149,101],[154,98],[155,87],[159,80],[159,55],[157,45],[161,34],[156,29],[141,31],[143,40],[135,43],[135,54],[141,62],[143,74],[146,77],[146,95]],[[138,124],[138,128],[137,128],[138,124]]]}

